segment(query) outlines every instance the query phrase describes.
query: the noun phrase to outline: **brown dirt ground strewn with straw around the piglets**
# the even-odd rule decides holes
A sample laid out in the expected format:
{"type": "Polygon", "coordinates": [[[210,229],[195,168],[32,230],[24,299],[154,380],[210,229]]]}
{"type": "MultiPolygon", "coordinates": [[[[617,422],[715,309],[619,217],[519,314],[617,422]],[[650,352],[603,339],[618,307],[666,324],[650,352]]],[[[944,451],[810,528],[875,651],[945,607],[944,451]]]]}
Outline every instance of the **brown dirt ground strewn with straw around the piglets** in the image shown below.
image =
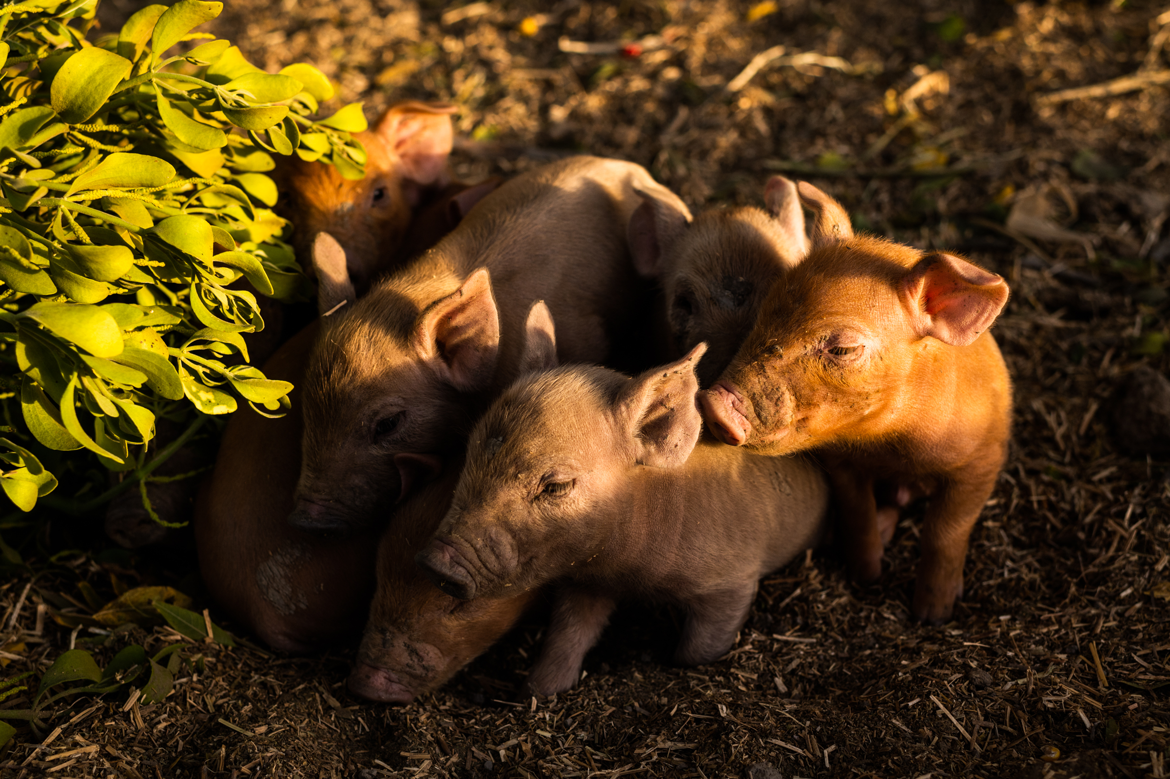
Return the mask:
{"type": "MultiPolygon", "coordinates": [[[[111,23],[132,9],[103,2],[111,23]]],[[[638,608],[617,617],[577,689],[542,703],[514,697],[539,615],[408,706],[349,696],[346,652],[192,647],[206,669],[161,704],[76,701],[43,750],[44,732],[22,730],[0,774],[1164,777],[1170,460],[1145,453],[1151,411],[1119,391],[1140,367],[1170,368],[1170,87],[1042,96],[1165,70],[1165,12],[1123,0],[228,0],[216,33],[269,69],[319,66],[371,116],[404,98],[457,103],[464,178],[587,151],[639,162],[703,207],[758,203],[766,177],[787,171],[838,197],[859,228],[998,271],[1013,291],[994,327],[1016,382],[1011,457],[943,627],[908,619],[911,513],[878,585],[851,585],[832,549],[798,561],[763,583],[736,648],[710,665],[670,667],[673,616],[638,608]],[[562,36],[640,50],[565,53],[562,36]],[[776,46],[784,56],[741,86],[776,46]]],[[[63,520],[5,521],[32,566],[7,568],[6,614],[39,572],[0,622],[6,678],[70,645],[51,622],[36,631],[33,606],[84,610],[82,581],[103,596],[111,574],[198,593],[181,542],[129,555],[63,520]]],[[[168,636],[73,640],[108,658],[168,636]]]]}

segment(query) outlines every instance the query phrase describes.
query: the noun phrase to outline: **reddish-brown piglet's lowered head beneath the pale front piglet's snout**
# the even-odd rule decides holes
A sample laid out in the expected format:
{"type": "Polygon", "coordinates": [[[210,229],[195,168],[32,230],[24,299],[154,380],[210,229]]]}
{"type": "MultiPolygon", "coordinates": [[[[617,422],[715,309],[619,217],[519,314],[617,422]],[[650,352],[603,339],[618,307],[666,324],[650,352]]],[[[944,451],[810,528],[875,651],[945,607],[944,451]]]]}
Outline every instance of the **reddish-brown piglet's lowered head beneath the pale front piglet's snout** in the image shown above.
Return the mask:
{"type": "MultiPolygon", "coordinates": [[[[456,458],[457,460],[457,458],[456,458]]],[[[535,590],[468,603],[431,585],[414,555],[450,505],[457,462],[404,503],[378,545],[378,585],[350,690],[371,701],[410,703],[438,689],[516,623],[535,590]]]]}

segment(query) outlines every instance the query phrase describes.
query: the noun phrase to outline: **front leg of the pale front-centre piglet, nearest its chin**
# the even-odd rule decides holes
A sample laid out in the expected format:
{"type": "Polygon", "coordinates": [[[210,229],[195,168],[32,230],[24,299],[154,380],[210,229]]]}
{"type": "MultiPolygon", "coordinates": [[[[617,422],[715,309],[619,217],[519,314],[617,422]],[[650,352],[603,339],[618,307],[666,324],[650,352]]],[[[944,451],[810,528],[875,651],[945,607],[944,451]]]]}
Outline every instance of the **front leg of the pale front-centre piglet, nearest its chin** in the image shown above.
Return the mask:
{"type": "Polygon", "coordinates": [[[528,675],[528,691],[549,696],[577,684],[585,652],[601,637],[615,607],[612,597],[580,589],[563,589],[552,609],[541,658],[528,675]]]}

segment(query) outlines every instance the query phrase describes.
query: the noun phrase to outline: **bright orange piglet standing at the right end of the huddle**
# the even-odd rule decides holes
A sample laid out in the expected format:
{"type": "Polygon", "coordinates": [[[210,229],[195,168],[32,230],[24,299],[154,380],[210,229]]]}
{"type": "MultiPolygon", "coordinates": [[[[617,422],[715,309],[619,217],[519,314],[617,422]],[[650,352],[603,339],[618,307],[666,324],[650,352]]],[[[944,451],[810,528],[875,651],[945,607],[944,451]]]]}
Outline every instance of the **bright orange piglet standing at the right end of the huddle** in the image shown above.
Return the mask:
{"type": "Polygon", "coordinates": [[[728,444],[817,450],[858,580],[881,573],[899,507],[929,496],[913,608],[942,622],[1007,452],[1011,381],[987,333],[1007,285],[955,254],[854,235],[840,204],[799,190],[812,252],[769,292],[704,415],[728,444]]]}

